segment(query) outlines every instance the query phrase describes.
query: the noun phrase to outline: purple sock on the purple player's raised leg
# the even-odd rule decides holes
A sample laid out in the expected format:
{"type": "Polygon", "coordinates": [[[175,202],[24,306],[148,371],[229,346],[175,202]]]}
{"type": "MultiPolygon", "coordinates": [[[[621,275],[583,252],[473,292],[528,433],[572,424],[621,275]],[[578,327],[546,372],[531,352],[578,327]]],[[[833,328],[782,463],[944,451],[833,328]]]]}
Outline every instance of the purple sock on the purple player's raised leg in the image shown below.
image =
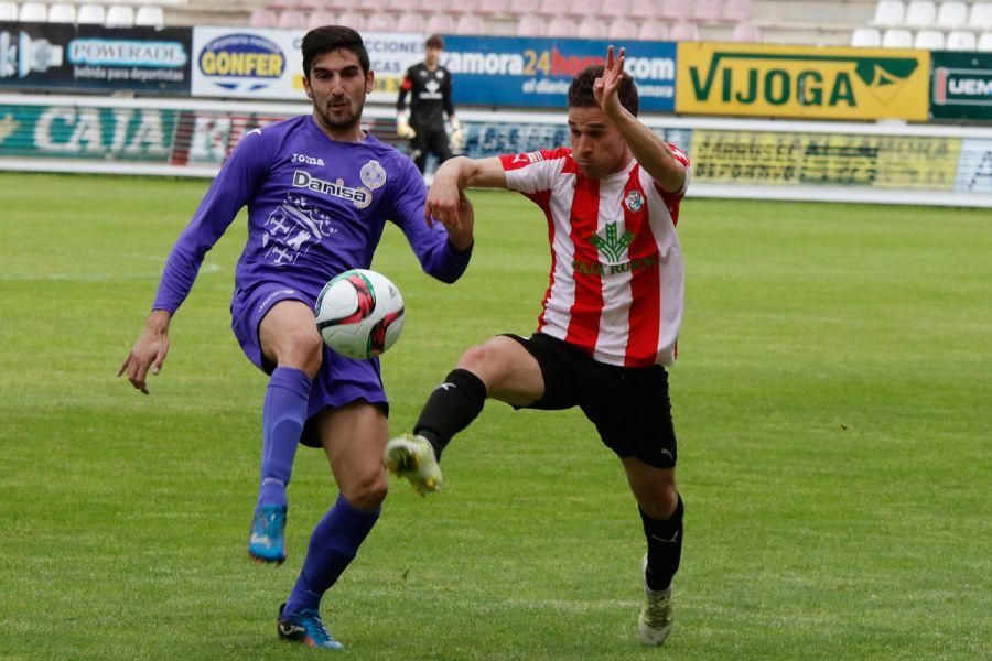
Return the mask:
{"type": "Polygon", "coordinates": [[[310,377],[292,367],[277,367],[269,378],[262,407],[262,466],[257,507],[285,505],[285,486],[306,422],[311,384],[310,377]]]}

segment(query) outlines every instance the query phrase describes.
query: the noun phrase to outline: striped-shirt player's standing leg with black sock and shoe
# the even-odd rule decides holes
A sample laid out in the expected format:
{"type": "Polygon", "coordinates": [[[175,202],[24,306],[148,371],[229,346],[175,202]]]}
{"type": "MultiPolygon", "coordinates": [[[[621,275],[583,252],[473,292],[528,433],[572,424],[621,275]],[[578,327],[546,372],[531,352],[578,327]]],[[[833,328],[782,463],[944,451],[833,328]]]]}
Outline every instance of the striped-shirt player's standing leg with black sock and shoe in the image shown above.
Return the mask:
{"type": "Polygon", "coordinates": [[[645,644],[661,644],[671,631],[671,579],[682,555],[682,499],[676,488],[675,468],[656,468],[635,457],[623,459],[623,464],[648,546],[637,632],[645,644]]]}

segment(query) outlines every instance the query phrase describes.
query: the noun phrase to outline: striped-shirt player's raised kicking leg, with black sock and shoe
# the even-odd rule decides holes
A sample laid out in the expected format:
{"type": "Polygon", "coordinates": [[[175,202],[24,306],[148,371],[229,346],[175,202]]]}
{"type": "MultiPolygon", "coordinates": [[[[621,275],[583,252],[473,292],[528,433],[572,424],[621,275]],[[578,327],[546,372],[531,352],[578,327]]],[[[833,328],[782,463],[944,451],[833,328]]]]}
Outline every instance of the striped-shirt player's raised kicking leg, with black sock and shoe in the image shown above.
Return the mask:
{"type": "Polygon", "coordinates": [[[524,407],[543,393],[541,368],[519,343],[498,336],[474,346],[434,388],[413,435],[389,442],[386,466],[409,479],[419,494],[436,491],[442,481],[441,452],[482,413],[487,397],[524,407]]]}

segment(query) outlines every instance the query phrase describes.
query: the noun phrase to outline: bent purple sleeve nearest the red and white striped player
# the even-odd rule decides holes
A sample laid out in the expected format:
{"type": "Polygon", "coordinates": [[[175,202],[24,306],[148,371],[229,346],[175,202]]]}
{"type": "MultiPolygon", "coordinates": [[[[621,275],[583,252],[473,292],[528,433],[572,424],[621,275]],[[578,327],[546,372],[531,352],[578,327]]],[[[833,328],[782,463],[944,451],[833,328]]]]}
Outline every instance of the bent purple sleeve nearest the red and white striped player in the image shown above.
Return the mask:
{"type": "Polygon", "coordinates": [[[423,177],[409,159],[400,158],[398,162],[399,182],[392,203],[392,221],[407,235],[424,272],[442,282],[454,282],[468,267],[472,248],[459,252],[448,240],[443,225],[434,223],[433,228],[428,226],[423,219],[427,202],[423,177]]]}

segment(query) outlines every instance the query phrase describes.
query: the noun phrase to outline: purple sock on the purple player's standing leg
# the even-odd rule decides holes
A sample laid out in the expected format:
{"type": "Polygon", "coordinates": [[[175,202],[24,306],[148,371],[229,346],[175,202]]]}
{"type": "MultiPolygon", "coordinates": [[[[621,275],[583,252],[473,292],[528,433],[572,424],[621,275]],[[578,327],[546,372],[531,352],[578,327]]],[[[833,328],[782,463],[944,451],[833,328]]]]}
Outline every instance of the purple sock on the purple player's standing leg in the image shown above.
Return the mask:
{"type": "Polygon", "coordinates": [[[313,529],[303,568],[283,613],[317,610],[321,597],[355,559],[378,518],[379,509],[364,512],[338,495],[337,502],[313,529]]]}

